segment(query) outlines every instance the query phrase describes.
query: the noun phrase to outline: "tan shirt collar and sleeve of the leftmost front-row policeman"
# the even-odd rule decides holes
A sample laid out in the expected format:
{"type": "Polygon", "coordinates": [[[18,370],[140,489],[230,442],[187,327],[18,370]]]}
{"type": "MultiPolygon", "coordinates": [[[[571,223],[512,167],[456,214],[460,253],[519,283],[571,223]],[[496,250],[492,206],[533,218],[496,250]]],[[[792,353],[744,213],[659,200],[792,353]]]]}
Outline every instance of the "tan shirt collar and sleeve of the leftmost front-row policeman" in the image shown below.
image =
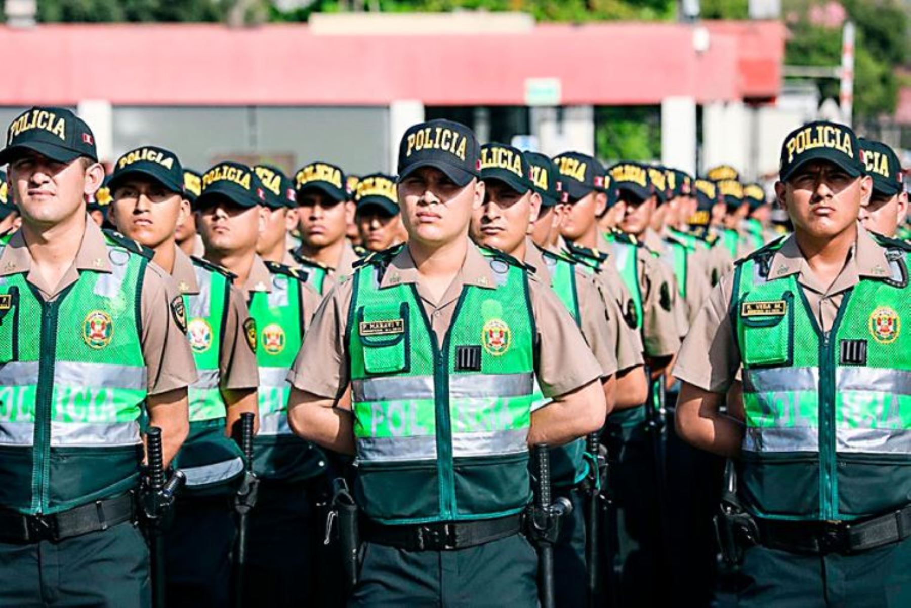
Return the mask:
{"type": "MultiPolygon", "coordinates": [[[[46,302],[55,300],[64,289],[78,281],[81,273],[86,272],[112,272],[104,234],[90,217],[87,217],[86,232],[76,260],[56,286],[48,285],[32,270],[32,255],[26,247],[22,231],[13,235],[3,254],[0,254],[0,276],[27,273],[26,281],[35,285],[46,302]]],[[[148,263],[142,280],[142,335],[139,336],[139,344],[148,372],[149,395],[186,388],[197,379],[187,336],[175,320],[171,308],[171,303],[175,300],[179,302],[179,297],[168,273],[158,264],[148,263]]],[[[66,330],[61,327],[59,331],[66,330]]]]}

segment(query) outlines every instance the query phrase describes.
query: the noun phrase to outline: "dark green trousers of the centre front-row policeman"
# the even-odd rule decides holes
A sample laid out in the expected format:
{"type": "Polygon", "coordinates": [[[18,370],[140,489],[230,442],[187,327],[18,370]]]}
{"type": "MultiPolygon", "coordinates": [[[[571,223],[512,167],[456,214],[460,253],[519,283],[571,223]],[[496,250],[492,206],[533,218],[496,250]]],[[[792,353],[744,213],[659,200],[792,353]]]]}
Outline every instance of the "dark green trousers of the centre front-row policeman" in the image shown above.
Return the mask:
{"type": "Polygon", "coordinates": [[[537,552],[521,534],[457,551],[365,543],[349,608],[537,608],[537,552]]]}

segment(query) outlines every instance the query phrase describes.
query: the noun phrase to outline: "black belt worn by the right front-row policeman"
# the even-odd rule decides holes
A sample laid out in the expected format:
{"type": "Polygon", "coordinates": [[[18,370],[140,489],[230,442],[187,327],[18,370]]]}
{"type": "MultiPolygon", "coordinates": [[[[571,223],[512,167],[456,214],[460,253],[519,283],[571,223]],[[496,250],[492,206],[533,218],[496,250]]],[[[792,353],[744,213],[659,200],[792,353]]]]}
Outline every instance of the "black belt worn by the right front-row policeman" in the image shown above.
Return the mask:
{"type": "Polygon", "coordinates": [[[911,504],[856,521],[779,521],[756,519],[764,547],[793,553],[850,555],[904,541],[911,536],[911,504]]]}

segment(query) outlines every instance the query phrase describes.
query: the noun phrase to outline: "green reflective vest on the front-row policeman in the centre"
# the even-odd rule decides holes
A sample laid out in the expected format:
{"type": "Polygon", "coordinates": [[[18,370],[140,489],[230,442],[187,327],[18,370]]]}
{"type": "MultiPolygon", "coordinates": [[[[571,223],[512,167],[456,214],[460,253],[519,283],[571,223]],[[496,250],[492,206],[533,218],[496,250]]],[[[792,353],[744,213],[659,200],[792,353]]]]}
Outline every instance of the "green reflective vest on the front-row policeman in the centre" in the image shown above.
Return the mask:
{"type": "Polygon", "coordinates": [[[348,319],[355,498],[384,523],[477,520],[530,500],[535,325],[524,266],[491,257],[495,285],[466,285],[443,344],[414,284],[355,270],[348,319]]]}

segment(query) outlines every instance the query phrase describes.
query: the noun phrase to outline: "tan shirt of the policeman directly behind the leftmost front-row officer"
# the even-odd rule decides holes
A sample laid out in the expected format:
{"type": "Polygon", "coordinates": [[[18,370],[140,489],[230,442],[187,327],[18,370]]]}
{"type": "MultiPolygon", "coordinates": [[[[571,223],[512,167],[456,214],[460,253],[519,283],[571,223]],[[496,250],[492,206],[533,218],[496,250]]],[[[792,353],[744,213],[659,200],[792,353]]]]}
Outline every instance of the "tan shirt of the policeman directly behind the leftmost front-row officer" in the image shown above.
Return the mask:
{"type": "MultiPolygon", "coordinates": [[[[200,284],[196,281],[196,271],[186,253],[176,247],[174,270],[171,278],[181,294],[196,295],[200,293],[200,284]]],[[[192,322],[189,318],[187,322],[192,322]]],[[[221,388],[242,389],[260,386],[260,374],[256,365],[256,353],[253,352],[243,325],[250,318],[247,303],[241,290],[230,285],[228,304],[225,306],[224,331],[221,334],[219,355],[221,388]]]]}

